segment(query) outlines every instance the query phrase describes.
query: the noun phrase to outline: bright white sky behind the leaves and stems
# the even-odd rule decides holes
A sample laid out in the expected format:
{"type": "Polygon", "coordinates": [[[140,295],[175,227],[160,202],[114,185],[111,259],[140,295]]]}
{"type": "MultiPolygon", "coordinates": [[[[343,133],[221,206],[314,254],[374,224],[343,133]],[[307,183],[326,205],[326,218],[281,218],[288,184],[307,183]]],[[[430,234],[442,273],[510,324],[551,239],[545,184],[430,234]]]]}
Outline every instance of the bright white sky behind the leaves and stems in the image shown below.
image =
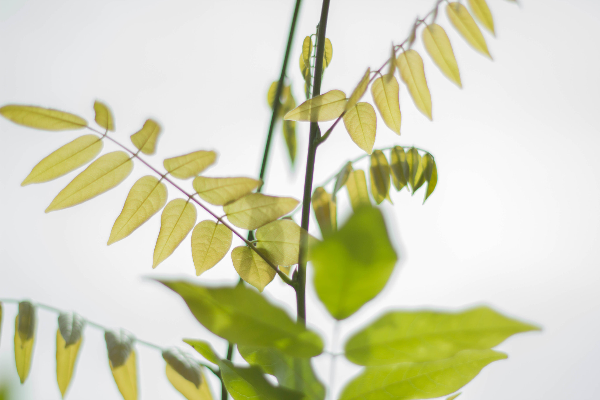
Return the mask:
{"type": "MultiPolygon", "coordinates": [[[[289,68],[297,99],[301,41],[314,32],[320,13],[319,1],[303,3],[289,68]]],[[[327,36],[334,56],[323,91],[350,92],[365,68],[378,68],[391,41],[402,41],[410,22],[433,3],[332,0],[327,36]]],[[[424,206],[422,193],[410,197],[406,191],[392,194],[395,206],[383,205],[401,257],[391,282],[341,323],[337,342],[331,340],[331,318],[310,289],[308,324],[328,338],[329,350],[339,351],[344,338],[382,309],[493,305],[544,331],[500,345],[509,359],[485,368],[461,399],[597,398],[600,2],[488,4],[497,27],[497,38],[486,33],[494,61],[470,49],[441,12],[464,89],[423,54],[434,121],[416,111],[404,87],[402,136],[379,121],[376,148],[428,149],[439,171],[436,192],[424,206]]],[[[0,104],[54,107],[92,121],[92,103],[103,100],[113,109],[115,137],[122,142],[146,118],[161,122],[158,154],[149,158],[155,166],[165,157],[214,149],[218,164],[206,175],[257,176],[269,120],[266,91],[278,77],[292,8],[292,0],[4,0],[0,104]]],[[[415,48],[421,50],[421,43],[415,48]]],[[[224,354],[224,341],[203,329],[181,299],[145,278],[233,284],[229,255],[196,278],[188,237],[152,270],[158,216],[127,239],[104,244],[129,188],[149,173],[145,167],[137,164],[124,184],[94,200],[44,214],[76,173],[48,184],[19,184],[41,158],[82,133],[34,131],[4,119],[0,133],[0,297],[74,309],[164,346],[180,345],[182,337],[209,339],[224,354]]],[[[277,132],[266,193],[301,198],[307,136],[308,126],[301,124],[294,172],[277,132]]],[[[315,182],[360,154],[340,124],[319,148],[315,182]]],[[[178,196],[169,191],[172,199],[178,196]]],[[[344,218],[346,195],[340,199],[344,218]]],[[[200,218],[207,216],[200,212],[200,218]]],[[[265,293],[293,309],[292,290],[277,279],[265,293]]],[[[15,314],[15,306],[5,305],[0,347],[0,379],[12,381],[15,314]]],[[[22,398],[59,399],[56,315],[40,310],[38,317],[31,375],[19,390],[22,398]]],[[[164,377],[160,353],[137,351],[140,399],[182,399],[164,377]]],[[[358,370],[337,365],[336,391],[358,370]]],[[[329,381],[329,356],[319,357],[316,366],[329,381]]],[[[211,383],[218,395],[217,382],[211,383]]],[[[103,333],[86,329],[68,398],[119,396],[103,333]]]]}

